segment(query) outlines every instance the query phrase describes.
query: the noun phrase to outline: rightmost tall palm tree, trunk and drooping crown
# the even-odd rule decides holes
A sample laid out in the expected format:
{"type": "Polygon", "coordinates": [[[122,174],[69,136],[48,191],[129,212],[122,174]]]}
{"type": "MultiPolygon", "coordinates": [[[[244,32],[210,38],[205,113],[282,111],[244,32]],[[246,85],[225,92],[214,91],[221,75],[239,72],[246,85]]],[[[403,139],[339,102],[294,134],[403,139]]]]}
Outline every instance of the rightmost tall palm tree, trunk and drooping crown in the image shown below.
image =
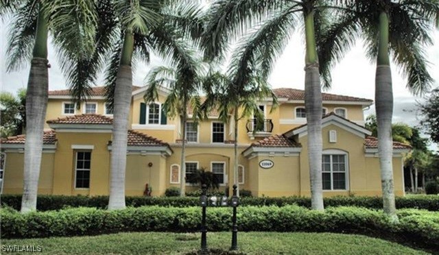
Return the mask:
{"type": "MultiPolygon", "coordinates": [[[[397,220],[392,173],[392,74],[390,56],[407,77],[407,88],[416,94],[431,87],[423,47],[431,45],[430,30],[439,25],[436,0],[340,0],[337,21],[326,29],[320,41],[320,71],[329,77],[330,67],[342,58],[356,38],[364,38],[367,55],[377,62],[375,105],[378,151],[381,168],[383,209],[397,220]]],[[[334,14],[335,15],[335,14],[334,14]]]]}

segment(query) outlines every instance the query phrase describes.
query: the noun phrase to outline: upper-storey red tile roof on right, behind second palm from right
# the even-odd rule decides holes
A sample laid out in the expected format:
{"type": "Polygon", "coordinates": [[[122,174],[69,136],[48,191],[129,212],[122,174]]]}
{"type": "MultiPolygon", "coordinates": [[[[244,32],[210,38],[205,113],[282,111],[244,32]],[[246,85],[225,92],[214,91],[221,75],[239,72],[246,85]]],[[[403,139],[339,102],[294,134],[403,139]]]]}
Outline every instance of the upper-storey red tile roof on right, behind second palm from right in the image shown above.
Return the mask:
{"type": "MultiPolygon", "coordinates": [[[[274,88],[274,94],[277,97],[286,97],[289,100],[305,100],[305,90],[299,90],[295,88],[274,88]]],[[[370,99],[364,99],[359,97],[348,97],[344,95],[334,95],[328,93],[322,93],[323,101],[356,101],[372,103],[370,99]]]]}

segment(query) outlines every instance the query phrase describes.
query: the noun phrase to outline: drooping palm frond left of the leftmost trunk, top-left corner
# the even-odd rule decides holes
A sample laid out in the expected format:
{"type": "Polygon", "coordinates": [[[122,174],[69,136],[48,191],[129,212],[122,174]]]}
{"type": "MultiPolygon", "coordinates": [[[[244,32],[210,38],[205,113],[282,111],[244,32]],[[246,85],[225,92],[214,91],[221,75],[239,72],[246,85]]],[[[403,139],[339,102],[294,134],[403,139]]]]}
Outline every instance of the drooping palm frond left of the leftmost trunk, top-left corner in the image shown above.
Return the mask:
{"type": "Polygon", "coordinates": [[[8,48],[6,49],[8,71],[21,69],[32,59],[38,8],[39,4],[27,1],[23,8],[16,10],[12,16],[8,32],[8,48]]]}

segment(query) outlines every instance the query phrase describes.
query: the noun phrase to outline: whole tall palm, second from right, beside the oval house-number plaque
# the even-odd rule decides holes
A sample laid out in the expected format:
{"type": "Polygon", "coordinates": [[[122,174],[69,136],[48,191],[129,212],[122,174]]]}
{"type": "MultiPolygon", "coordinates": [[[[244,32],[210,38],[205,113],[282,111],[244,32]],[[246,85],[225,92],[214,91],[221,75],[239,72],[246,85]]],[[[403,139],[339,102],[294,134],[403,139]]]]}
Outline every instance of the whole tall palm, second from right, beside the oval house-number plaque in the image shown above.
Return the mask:
{"type": "Polygon", "coordinates": [[[331,1],[316,0],[217,0],[211,5],[202,46],[209,58],[226,56],[229,39],[250,29],[244,54],[258,60],[263,77],[270,73],[289,36],[301,23],[305,29],[305,108],[308,125],[308,159],[311,207],[323,210],[322,196],[322,91],[316,36],[327,23],[331,1]]]}

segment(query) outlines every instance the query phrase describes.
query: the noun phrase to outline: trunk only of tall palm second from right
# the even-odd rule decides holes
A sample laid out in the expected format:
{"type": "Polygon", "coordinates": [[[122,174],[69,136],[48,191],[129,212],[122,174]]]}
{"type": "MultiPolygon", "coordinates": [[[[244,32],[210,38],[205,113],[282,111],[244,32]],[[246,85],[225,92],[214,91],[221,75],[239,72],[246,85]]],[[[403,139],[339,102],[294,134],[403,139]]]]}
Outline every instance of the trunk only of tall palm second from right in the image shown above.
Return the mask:
{"type": "Polygon", "coordinates": [[[322,90],[314,36],[313,12],[305,14],[305,109],[308,126],[308,162],[311,208],[324,210],[322,188],[322,90]]]}

